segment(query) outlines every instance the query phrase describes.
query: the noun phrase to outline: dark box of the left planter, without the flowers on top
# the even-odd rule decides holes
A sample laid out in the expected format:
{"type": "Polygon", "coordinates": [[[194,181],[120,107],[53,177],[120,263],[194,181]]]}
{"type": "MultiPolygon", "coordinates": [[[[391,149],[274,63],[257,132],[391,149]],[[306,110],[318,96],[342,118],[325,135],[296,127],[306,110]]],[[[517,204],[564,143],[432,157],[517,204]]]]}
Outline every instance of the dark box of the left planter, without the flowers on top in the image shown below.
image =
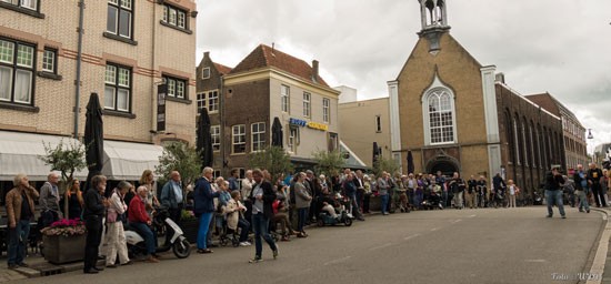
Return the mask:
{"type": "Polygon", "coordinates": [[[43,235],[44,260],[53,264],[78,262],[84,258],[87,234],[82,235],[43,235]]]}

